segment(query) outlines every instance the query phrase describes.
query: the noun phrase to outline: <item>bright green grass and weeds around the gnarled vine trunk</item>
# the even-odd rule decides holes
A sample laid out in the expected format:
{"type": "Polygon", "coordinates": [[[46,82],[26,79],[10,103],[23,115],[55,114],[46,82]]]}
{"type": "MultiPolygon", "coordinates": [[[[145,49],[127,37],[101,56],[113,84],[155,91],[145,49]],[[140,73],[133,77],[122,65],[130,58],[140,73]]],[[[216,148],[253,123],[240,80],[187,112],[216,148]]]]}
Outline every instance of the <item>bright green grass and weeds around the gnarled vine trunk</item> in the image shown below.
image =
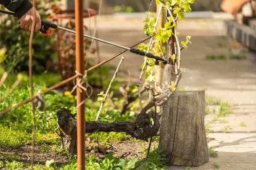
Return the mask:
{"type": "MultiPolygon", "coordinates": [[[[9,82],[6,82],[4,86],[0,90],[0,96],[3,96],[6,91],[9,89],[9,85],[12,85],[12,82],[15,81],[15,76],[10,75],[9,82]],[[13,77],[13,80],[12,80],[13,77]]],[[[55,81],[52,80],[52,82],[44,82],[44,80],[48,80],[54,78],[53,75],[49,74],[49,77],[41,76],[41,78],[38,78],[38,81],[40,83],[35,83],[34,86],[34,93],[39,93],[44,90],[44,86],[49,84],[55,84],[55,81]]],[[[57,78],[58,79],[58,78],[57,78]]],[[[56,80],[56,78],[55,78],[56,80]]],[[[57,80],[56,80],[57,82],[57,80]]],[[[15,88],[12,93],[7,96],[7,98],[0,103],[0,110],[3,110],[5,108],[8,108],[12,105],[17,104],[18,102],[29,98],[29,88],[26,84],[26,79],[23,80],[23,82],[15,88]]],[[[105,83],[107,84],[107,83],[105,83]]],[[[116,84],[116,88],[119,88],[119,83],[116,84]],[[117,86],[118,85],[118,86],[117,86]]],[[[132,88],[132,87],[131,87],[132,88]]],[[[70,159],[70,162],[68,164],[63,164],[61,167],[57,167],[55,163],[46,162],[46,164],[35,164],[34,169],[35,170],[64,170],[64,169],[76,169],[77,168],[77,160],[76,156],[72,157],[70,156],[66,150],[61,150],[58,146],[60,146],[60,139],[58,136],[56,136],[54,133],[52,133],[47,125],[48,122],[51,122],[52,127],[57,127],[56,122],[56,111],[58,111],[60,108],[69,108],[72,113],[76,112],[76,108],[74,107],[76,105],[76,96],[69,97],[65,96],[64,94],[58,92],[58,91],[51,91],[48,94],[45,94],[42,96],[45,103],[44,111],[39,111],[38,108],[35,109],[36,114],[36,141],[35,144],[42,144],[43,146],[38,147],[38,152],[41,154],[44,154],[48,152],[51,147],[50,145],[57,145],[57,147],[52,147],[52,150],[58,153],[59,155],[66,156],[70,159]]],[[[119,110],[122,107],[122,101],[124,99],[118,99],[114,100],[117,105],[118,109],[113,109],[111,105],[108,103],[108,101],[105,102],[105,107],[102,110],[102,114],[100,116],[99,121],[100,122],[134,122],[136,120],[135,113],[138,109],[139,105],[134,104],[132,105],[132,111],[128,111],[127,113],[120,115],[119,110]]],[[[96,114],[99,109],[99,105],[101,102],[93,101],[92,99],[88,99],[86,101],[86,119],[89,121],[94,121],[96,118],[96,114]]],[[[31,137],[32,137],[32,113],[30,108],[30,103],[20,106],[19,108],[10,111],[9,113],[1,116],[0,119],[0,146],[1,147],[18,147],[18,146],[25,146],[28,144],[31,144],[31,137]]],[[[58,132],[58,130],[57,130],[58,132]]],[[[97,137],[99,138],[99,142],[101,144],[105,145],[107,147],[107,141],[108,140],[127,140],[130,138],[130,136],[125,135],[124,133],[93,133],[90,136],[90,139],[92,139],[92,142],[95,142],[97,140],[97,137]]],[[[135,140],[135,139],[129,139],[129,140],[135,140]]],[[[136,140],[135,140],[136,141],[136,140]]],[[[162,154],[162,153],[161,153],[162,154]]],[[[164,170],[164,167],[162,166],[163,163],[163,156],[161,156],[159,152],[156,152],[154,150],[151,150],[150,157],[152,158],[151,161],[148,159],[148,166],[151,166],[155,164],[157,167],[161,167],[162,170],[164,170]],[[158,156],[158,157],[157,157],[158,156]],[[160,157],[159,157],[160,156],[160,157]]],[[[139,160],[137,159],[130,159],[128,161],[125,161],[124,159],[116,158],[114,156],[108,155],[104,160],[99,161],[94,155],[91,155],[87,157],[86,164],[87,167],[90,169],[112,169],[110,167],[119,167],[120,169],[127,169],[130,170],[135,166],[135,163],[139,160]],[[111,162],[112,161],[112,162],[111,162]],[[108,163],[109,162],[109,163],[108,163]],[[96,168],[98,167],[99,168],[96,168]]],[[[6,161],[0,161],[0,169],[2,168],[9,168],[9,169],[29,169],[29,164],[25,164],[21,162],[20,157],[17,155],[1,155],[1,159],[4,159],[6,161]],[[3,158],[2,158],[3,156],[3,158]]],[[[140,163],[137,163],[140,164],[140,163]]]]}

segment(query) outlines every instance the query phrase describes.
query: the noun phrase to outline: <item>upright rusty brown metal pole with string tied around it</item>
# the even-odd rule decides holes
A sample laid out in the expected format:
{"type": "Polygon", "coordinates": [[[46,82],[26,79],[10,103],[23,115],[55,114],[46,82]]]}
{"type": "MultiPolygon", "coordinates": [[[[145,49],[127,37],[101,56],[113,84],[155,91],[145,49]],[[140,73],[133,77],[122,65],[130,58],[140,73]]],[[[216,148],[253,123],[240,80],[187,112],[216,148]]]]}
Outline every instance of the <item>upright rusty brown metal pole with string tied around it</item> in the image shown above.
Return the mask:
{"type": "MultiPolygon", "coordinates": [[[[75,18],[76,18],[76,71],[84,74],[84,37],[83,37],[83,0],[75,0],[75,18]]],[[[78,78],[76,79],[78,81],[78,78]]],[[[85,92],[76,88],[77,105],[85,99],[85,92]]],[[[85,170],[85,119],[84,103],[77,108],[77,163],[78,170],[85,170]]]]}

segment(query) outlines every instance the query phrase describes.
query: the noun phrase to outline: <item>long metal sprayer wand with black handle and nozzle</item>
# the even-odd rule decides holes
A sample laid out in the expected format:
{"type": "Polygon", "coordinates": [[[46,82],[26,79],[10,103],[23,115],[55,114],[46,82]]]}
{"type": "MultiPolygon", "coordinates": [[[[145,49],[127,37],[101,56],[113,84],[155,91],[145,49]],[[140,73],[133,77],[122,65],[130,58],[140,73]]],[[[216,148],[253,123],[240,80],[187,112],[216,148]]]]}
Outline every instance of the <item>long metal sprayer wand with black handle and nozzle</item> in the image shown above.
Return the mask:
{"type": "MultiPolygon", "coordinates": [[[[0,12],[3,13],[3,14],[9,14],[9,15],[14,16],[14,13],[12,13],[12,12],[2,11],[2,10],[0,10],[0,12]]],[[[49,35],[49,28],[54,28],[54,29],[58,28],[58,29],[76,34],[76,31],[57,26],[56,24],[50,23],[48,21],[41,20],[41,29],[39,31],[41,31],[42,34],[49,35]]],[[[155,65],[159,65],[159,61],[163,61],[164,65],[167,64],[167,61],[165,59],[163,59],[161,57],[158,57],[158,56],[154,56],[151,53],[145,53],[144,51],[141,51],[141,50],[136,49],[136,48],[128,48],[128,47],[125,47],[125,46],[122,46],[122,45],[115,44],[113,42],[109,42],[109,41],[105,41],[105,40],[102,40],[102,39],[99,39],[99,38],[96,38],[96,37],[92,37],[92,36],[89,36],[89,35],[86,35],[86,34],[83,34],[83,36],[87,37],[87,38],[90,38],[90,39],[93,39],[93,40],[96,40],[96,41],[99,41],[99,42],[103,42],[103,43],[106,43],[106,44],[109,44],[109,45],[113,45],[113,46],[116,46],[116,47],[119,47],[119,48],[123,48],[125,50],[129,50],[130,52],[132,52],[134,54],[139,54],[141,56],[146,56],[148,58],[156,59],[155,65]]]]}

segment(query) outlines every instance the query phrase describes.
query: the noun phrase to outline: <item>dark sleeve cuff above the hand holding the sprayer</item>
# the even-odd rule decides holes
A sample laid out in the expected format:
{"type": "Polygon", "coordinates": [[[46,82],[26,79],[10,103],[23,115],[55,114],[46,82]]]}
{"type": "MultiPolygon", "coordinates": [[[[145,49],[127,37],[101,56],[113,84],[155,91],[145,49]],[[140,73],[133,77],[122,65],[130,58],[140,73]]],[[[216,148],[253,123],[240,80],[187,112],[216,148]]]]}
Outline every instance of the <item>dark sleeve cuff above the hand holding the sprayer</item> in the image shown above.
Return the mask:
{"type": "Polygon", "coordinates": [[[14,12],[14,16],[20,19],[33,4],[29,0],[0,0],[0,4],[5,6],[9,11],[14,12]]]}

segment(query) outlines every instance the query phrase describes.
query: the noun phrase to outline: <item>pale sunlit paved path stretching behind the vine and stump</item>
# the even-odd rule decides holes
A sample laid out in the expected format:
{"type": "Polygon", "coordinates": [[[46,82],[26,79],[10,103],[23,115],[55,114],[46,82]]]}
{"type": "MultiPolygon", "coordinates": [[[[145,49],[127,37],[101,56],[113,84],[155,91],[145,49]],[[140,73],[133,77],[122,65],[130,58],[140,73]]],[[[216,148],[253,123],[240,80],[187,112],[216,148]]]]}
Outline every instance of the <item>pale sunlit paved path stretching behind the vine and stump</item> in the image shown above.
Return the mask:
{"type": "MultiPolygon", "coordinates": [[[[233,114],[223,118],[227,124],[215,122],[211,125],[214,138],[209,146],[218,151],[218,156],[210,158],[207,164],[193,167],[195,170],[212,170],[213,163],[220,165],[220,170],[256,170],[256,54],[251,53],[225,35],[224,20],[218,14],[213,18],[189,18],[178,23],[180,41],[186,35],[192,36],[192,44],[182,51],[181,67],[186,72],[180,80],[184,90],[205,90],[208,96],[215,96],[223,101],[230,101],[233,114]],[[246,59],[230,59],[232,54],[245,55],[246,59]],[[207,55],[221,55],[227,60],[207,60],[207,55]],[[244,122],[246,127],[241,127],[244,122]],[[229,133],[222,132],[229,125],[229,133]]],[[[144,18],[102,17],[99,22],[99,38],[130,46],[145,38],[143,33],[144,18]]],[[[88,20],[85,20],[85,23],[88,20]]],[[[93,23],[91,23],[93,26],[93,23]]],[[[111,57],[122,49],[100,43],[102,60],[111,57]]],[[[93,56],[93,55],[91,55],[93,56]]],[[[126,52],[122,73],[118,76],[128,77],[137,83],[140,76],[143,57],[126,52]]],[[[118,57],[109,64],[117,65],[118,57]]],[[[206,115],[205,122],[212,119],[206,115]]],[[[170,170],[181,170],[183,167],[170,167],[170,170]]],[[[216,168],[215,168],[216,169],[216,168]]]]}

